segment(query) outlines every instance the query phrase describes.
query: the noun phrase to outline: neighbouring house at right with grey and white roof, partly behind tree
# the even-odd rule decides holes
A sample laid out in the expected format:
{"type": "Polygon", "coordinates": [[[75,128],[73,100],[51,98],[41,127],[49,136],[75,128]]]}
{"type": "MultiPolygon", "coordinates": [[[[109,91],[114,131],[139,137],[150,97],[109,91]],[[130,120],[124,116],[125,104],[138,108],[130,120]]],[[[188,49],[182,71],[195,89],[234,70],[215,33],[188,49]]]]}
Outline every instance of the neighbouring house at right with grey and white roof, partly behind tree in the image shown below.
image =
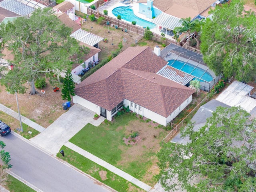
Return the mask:
{"type": "MultiPolygon", "coordinates": [[[[218,106],[232,107],[240,106],[252,116],[256,116],[256,99],[250,97],[252,86],[242,82],[234,81],[230,84],[217,98],[202,105],[191,119],[194,122],[194,131],[198,131],[205,125],[207,118],[212,116],[212,112],[218,106]]],[[[181,138],[181,134],[177,134],[171,142],[187,144],[190,142],[188,137],[181,138]]]]}

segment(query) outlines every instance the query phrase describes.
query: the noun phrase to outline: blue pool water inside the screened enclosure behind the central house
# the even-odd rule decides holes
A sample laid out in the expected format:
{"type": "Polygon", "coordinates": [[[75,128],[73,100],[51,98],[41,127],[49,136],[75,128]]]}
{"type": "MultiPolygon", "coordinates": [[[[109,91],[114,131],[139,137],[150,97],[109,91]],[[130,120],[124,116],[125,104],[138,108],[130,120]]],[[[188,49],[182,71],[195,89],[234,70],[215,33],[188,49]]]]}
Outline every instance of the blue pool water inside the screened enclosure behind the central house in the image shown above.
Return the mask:
{"type": "Polygon", "coordinates": [[[213,77],[211,76],[210,73],[205,72],[205,70],[203,70],[201,68],[198,68],[198,67],[195,68],[195,66],[192,65],[192,64],[186,63],[184,65],[184,62],[179,61],[179,60],[175,60],[175,62],[174,62],[174,60],[172,59],[172,60],[168,60],[168,65],[172,66],[172,67],[174,67],[174,68],[176,68],[178,70],[181,70],[183,72],[186,72],[188,74],[191,74],[192,76],[200,78],[200,79],[202,79],[204,81],[211,82],[213,80],[213,77]],[[182,67],[182,66],[184,66],[184,67],[182,67]],[[193,69],[194,69],[194,71],[193,71],[193,69]]]}

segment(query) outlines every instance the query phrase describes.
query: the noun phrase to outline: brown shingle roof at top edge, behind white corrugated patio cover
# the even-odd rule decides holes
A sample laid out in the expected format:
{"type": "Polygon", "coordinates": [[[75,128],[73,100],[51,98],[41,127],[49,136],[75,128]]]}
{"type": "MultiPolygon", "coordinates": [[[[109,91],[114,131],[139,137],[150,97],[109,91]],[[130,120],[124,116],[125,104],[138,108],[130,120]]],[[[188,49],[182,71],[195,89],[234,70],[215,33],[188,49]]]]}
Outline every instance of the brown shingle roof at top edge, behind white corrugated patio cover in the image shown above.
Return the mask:
{"type": "MultiPolygon", "coordinates": [[[[147,0],[139,0],[138,3],[146,3],[147,0]]],[[[180,6],[186,7],[191,11],[196,11],[198,14],[206,10],[212,4],[214,4],[216,0],[153,0],[153,5],[160,9],[162,12],[168,10],[174,4],[178,4],[180,6]]],[[[172,15],[171,13],[168,13],[172,15]]],[[[185,14],[185,12],[184,12],[185,14]]],[[[185,16],[181,18],[186,18],[185,16]]]]}

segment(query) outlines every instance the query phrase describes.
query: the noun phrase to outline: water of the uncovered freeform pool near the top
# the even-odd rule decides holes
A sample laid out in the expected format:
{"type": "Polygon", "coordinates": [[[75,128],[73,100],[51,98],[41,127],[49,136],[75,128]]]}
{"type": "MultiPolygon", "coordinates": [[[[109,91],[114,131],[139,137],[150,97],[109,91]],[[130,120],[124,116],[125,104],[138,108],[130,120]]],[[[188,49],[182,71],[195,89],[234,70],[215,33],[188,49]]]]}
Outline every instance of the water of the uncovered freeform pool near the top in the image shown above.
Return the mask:
{"type": "Polygon", "coordinates": [[[141,19],[134,15],[134,12],[132,10],[131,6],[128,7],[116,7],[112,10],[112,13],[114,16],[121,16],[121,20],[126,20],[129,22],[136,21],[136,25],[142,26],[142,27],[150,27],[150,29],[155,28],[156,24],[146,21],[144,19],[141,19]]]}

